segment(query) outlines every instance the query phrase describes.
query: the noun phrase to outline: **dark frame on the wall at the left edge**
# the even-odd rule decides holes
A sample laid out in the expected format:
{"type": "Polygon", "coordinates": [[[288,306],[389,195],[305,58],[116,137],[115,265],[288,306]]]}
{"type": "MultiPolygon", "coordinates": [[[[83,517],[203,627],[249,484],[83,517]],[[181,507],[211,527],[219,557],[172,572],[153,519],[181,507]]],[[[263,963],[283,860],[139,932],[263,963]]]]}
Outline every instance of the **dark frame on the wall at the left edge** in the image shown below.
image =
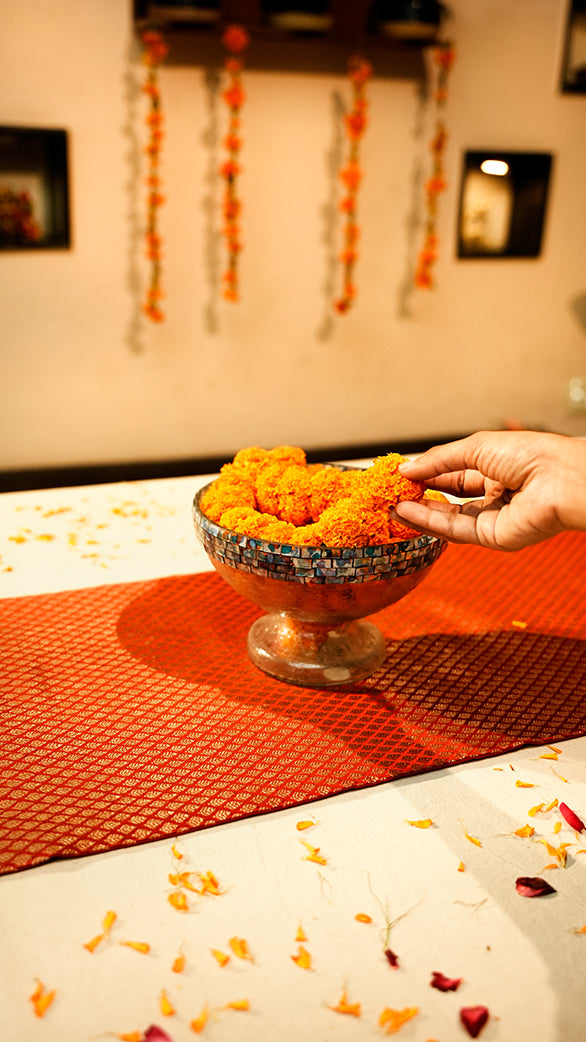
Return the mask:
{"type": "Polygon", "coordinates": [[[0,250],[70,245],[67,131],[0,126],[0,250]]]}

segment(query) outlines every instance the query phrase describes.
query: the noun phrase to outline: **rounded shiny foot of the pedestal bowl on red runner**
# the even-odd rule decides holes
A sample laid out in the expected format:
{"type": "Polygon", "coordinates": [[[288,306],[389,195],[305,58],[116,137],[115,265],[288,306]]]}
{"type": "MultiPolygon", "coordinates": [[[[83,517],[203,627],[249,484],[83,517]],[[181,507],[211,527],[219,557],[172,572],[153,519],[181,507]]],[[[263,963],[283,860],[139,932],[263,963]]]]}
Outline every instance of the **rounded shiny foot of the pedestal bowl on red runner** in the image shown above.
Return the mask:
{"type": "Polygon", "coordinates": [[[334,625],[263,615],[248,631],[250,661],[270,676],[303,688],[364,680],[385,655],[383,634],[364,619],[334,625]]]}

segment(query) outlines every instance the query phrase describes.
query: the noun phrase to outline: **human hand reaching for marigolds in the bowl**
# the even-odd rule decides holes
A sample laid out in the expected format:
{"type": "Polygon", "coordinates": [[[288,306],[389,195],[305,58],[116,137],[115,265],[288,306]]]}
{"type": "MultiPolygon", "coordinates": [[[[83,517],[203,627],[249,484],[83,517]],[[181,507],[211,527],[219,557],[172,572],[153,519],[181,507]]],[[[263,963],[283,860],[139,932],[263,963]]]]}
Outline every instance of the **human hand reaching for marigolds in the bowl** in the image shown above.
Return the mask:
{"type": "Polygon", "coordinates": [[[436,446],[399,470],[467,500],[397,503],[397,519],[425,535],[519,550],[566,529],[586,530],[586,441],[529,430],[479,431],[436,446]]]}

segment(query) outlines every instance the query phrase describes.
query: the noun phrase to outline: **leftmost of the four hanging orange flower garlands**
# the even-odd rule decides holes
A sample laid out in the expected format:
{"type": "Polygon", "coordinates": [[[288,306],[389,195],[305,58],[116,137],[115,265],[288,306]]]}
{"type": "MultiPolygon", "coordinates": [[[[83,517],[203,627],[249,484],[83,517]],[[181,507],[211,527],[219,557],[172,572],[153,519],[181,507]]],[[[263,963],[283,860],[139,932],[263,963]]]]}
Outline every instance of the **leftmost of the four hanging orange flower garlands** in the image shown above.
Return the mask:
{"type": "Polygon", "coordinates": [[[146,118],[149,139],[145,152],[148,157],[147,226],[145,233],[146,255],[150,260],[150,282],[146,293],[143,311],[153,322],[162,322],[164,314],[161,309],[161,257],[162,239],[158,232],[158,208],[165,202],[161,194],[161,146],[163,142],[163,113],[161,109],[161,90],[158,86],[158,67],[168,54],[169,48],[163,33],[155,29],[146,29],[142,34],[144,44],[143,64],[147,67],[147,78],[143,86],[150,106],[146,118]]]}

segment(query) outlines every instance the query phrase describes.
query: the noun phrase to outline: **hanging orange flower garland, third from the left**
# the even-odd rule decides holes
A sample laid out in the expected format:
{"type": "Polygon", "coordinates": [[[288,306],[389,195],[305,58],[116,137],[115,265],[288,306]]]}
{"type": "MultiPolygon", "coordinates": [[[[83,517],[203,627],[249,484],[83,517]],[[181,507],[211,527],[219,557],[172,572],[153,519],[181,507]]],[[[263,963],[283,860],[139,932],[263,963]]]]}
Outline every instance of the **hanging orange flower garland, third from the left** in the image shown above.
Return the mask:
{"type": "Polygon", "coordinates": [[[343,288],[341,296],[334,303],[340,315],[344,315],[350,308],[357,292],[353,281],[355,266],[358,260],[357,244],[360,237],[357,199],[363,177],[360,164],[360,143],[368,124],[366,83],[371,76],[372,66],[369,61],[356,55],[349,58],[348,78],[352,86],[353,97],[351,108],[344,116],[344,127],[350,149],[348,160],[340,171],[340,180],[345,189],[345,195],[340,201],[340,209],[345,217],[344,247],[340,253],[343,288]]]}

